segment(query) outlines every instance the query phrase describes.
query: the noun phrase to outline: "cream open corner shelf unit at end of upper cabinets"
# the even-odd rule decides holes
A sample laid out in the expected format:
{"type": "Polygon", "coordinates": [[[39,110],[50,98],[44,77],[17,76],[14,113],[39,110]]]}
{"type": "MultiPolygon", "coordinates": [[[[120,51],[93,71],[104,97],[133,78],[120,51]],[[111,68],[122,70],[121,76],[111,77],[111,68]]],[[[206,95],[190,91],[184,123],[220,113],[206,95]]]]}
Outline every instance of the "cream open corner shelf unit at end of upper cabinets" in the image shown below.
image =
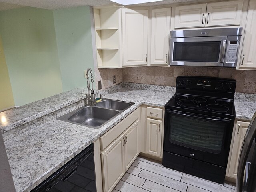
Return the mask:
{"type": "Polygon", "coordinates": [[[94,8],[98,68],[122,67],[121,10],[94,8]]]}

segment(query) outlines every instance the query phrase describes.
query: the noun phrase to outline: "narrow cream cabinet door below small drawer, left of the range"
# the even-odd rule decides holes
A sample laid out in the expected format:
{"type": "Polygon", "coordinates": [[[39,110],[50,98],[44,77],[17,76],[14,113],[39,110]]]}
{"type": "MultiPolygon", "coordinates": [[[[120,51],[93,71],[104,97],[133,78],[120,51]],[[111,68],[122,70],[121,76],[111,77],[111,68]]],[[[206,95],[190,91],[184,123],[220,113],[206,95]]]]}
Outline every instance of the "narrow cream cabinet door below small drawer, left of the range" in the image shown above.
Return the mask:
{"type": "Polygon", "coordinates": [[[146,153],[161,156],[162,121],[147,118],[146,153]]]}

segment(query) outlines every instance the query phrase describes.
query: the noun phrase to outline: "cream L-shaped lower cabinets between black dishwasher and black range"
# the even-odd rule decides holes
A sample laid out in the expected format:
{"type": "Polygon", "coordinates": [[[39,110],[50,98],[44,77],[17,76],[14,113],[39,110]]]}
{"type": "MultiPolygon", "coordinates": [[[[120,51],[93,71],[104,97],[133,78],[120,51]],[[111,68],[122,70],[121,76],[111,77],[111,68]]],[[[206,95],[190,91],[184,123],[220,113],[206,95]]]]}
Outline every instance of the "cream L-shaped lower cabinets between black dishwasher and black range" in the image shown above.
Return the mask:
{"type": "Polygon", "coordinates": [[[140,152],[161,158],[163,108],[142,106],[100,137],[103,192],[112,192],[140,152]]]}

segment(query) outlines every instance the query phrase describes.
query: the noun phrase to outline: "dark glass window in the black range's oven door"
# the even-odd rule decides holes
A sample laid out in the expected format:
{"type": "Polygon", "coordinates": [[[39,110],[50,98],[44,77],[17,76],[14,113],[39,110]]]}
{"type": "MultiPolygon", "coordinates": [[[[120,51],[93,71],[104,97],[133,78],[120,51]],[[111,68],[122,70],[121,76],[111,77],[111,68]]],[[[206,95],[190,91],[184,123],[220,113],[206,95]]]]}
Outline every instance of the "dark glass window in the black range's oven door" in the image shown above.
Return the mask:
{"type": "Polygon", "coordinates": [[[220,154],[227,123],[172,114],[169,141],[180,146],[220,154]]]}

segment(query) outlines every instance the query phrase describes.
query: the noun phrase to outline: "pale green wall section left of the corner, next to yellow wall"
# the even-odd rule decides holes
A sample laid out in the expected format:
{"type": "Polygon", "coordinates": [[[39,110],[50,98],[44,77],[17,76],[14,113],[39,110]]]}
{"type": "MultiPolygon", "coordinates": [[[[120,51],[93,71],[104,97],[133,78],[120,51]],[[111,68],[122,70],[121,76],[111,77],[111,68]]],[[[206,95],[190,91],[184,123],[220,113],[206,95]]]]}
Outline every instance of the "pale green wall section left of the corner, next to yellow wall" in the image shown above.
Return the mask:
{"type": "Polygon", "coordinates": [[[15,105],[62,92],[52,10],[1,11],[0,34],[15,105]]]}

